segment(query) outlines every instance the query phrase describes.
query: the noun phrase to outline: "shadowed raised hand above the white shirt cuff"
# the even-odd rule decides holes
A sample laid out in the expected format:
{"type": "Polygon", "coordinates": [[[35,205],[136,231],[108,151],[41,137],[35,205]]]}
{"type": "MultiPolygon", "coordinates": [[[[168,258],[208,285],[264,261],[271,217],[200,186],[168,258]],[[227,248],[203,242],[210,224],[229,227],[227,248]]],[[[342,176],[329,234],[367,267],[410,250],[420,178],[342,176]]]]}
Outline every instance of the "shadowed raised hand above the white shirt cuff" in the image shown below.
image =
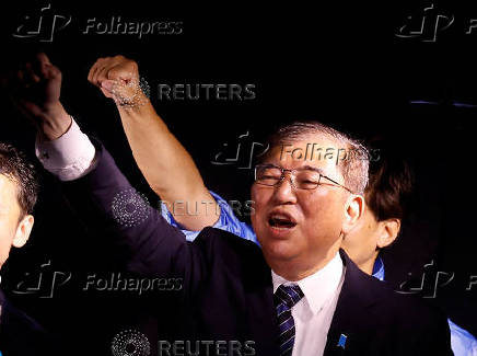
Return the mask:
{"type": "Polygon", "coordinates": [[[44,138],[56,139],[71,125],[71,117],[60,102],[61,71],[39,53],[3,79],[3,85],[15,106],[38,129],[44,138]]]}

